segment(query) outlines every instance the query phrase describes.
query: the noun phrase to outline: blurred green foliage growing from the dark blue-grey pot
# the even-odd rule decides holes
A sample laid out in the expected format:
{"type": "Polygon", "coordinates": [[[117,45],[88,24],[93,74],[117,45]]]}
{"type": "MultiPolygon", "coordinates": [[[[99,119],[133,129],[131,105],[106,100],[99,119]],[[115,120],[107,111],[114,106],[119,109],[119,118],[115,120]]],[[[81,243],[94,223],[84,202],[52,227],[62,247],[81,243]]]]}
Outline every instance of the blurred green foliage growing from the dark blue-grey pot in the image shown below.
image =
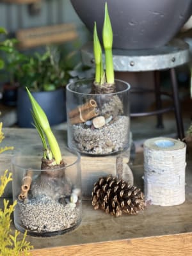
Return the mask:
{"type": "Polygon", "coordinates": [[[19,84],[28,86],[31,92],[56,90],[65,86],[65,70],[61,67],[60,54],[56,47],[46,47],[45,52],[35,52],[22,65],[19,84]]]}

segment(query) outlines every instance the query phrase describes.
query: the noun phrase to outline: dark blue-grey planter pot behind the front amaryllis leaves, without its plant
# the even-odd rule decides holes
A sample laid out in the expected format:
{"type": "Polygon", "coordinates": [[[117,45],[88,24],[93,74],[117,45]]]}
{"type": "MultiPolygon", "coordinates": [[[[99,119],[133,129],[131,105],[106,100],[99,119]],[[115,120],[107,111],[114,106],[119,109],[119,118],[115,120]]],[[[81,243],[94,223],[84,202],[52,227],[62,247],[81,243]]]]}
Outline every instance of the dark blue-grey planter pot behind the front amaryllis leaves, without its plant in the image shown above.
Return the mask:
{"type": "MultiPolygon", "coordinates": [[[[50,125],[60,124],[67,120],[66,104],[65,104],[65,88],[60,88],[52,92],[33,92],[33,97],[49,120],[50,125]]],[[[19,88],[17,95],[17,124],[20,127],[33,127],[31,116],[31,102],[28,94],[23,88],[19,88]]]]}

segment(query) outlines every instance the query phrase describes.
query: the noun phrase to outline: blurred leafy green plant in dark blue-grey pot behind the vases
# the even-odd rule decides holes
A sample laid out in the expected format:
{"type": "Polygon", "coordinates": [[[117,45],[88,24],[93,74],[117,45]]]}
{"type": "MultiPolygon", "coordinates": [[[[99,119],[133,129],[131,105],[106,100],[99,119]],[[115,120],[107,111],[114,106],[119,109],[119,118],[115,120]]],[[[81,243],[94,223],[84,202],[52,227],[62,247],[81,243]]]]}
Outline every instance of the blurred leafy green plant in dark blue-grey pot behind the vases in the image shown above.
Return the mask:
{"type": "Polygon", "coordinates": [[[19,90],[17,98],[17,120],[20,127],[32,127],[29,115],[29,98],[25,86],[28,86],[35,99],[41,104],[51,125],[66,120],[65,72],[56,47],[46,47],[45,52],[35,52],[28,56],[19,72],[19,90]]]}

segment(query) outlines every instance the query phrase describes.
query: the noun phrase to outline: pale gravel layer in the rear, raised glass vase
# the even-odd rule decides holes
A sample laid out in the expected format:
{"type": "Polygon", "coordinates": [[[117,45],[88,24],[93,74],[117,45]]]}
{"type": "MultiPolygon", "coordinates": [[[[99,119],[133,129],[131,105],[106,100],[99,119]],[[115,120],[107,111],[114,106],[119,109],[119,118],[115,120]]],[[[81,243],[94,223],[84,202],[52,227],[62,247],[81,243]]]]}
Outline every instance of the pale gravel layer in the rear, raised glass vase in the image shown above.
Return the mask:
{"type": "Polygon", "coordinates": [[[129,117],[116,116],[116,120],[100,129],[72,125],[73,143],[86,154],[111,154],[124,150],[129,143],[129,117]]]}

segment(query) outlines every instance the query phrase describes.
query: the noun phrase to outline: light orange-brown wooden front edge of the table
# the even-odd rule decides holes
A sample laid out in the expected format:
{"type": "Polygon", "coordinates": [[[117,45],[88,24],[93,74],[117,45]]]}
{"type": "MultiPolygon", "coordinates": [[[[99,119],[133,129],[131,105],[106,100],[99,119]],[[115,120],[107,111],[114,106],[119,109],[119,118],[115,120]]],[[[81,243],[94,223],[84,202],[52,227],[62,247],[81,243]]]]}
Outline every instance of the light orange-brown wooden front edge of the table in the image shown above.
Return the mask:
{"type": "Polygon", "coordinates": [[[191,256],[192,234],[125,239],[105,243],[79,244],[33,250],[33,256],[191,256]]]}

